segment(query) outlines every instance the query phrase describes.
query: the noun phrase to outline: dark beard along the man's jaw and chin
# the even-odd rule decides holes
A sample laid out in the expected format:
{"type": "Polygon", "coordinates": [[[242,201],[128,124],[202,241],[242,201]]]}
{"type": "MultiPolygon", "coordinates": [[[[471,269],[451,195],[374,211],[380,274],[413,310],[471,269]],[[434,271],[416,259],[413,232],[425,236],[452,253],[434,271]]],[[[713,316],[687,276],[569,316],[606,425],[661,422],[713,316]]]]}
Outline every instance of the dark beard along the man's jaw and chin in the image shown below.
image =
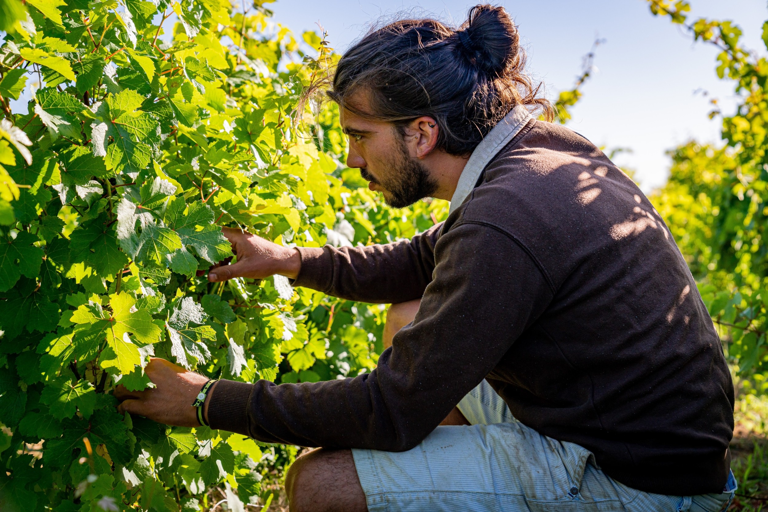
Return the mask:
{"type": "Polygon", "coordinates": [[[384,163],[391,169],[386,180],[376,180],[364,167],[360,169],[360,175],[364,180],[376,183],[386,190],[383,196],[388,206],[405,208],[420,199],[431,197],[437,190],[438,183],[419,160],[408,154],[408,148],[402,138],[395,138],[398,141],[398,150],[384,163]]]}

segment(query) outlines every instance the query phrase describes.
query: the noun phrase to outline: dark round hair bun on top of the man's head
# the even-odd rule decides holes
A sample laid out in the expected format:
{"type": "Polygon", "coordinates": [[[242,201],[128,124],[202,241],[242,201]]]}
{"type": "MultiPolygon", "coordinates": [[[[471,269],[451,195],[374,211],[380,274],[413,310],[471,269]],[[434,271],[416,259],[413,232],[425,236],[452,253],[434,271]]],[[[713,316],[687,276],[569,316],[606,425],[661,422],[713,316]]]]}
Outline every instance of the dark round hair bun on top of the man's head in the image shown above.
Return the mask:
{"type": "Polygon", "coordinates": [[[475,5],[456,35],[462,50],[488,74],[502,74],[518,55],[518,29],[503,7],[475,5]]]}

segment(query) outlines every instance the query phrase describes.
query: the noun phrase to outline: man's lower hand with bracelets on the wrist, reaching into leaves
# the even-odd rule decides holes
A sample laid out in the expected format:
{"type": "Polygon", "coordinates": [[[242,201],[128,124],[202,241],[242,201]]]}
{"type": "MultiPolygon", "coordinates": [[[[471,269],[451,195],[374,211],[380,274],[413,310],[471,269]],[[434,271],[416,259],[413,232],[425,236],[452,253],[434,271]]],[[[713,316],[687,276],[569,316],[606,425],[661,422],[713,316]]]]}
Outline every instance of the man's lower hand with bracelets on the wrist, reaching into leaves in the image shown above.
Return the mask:
{"type": "MultiPolygon", "coordinates": [[[[114,396],[121,401],[118,411],[130,412],[177,427],[199,427],[197,408],[192,407],[200,388],[208,382],[208,378],[199,373],[190,372],[185,368],[174,365],[161,358],[151,358],[144,368],[147,377],[156,388],[144,391],[128,391],[118,385],[114,396]]],[[[214,387],[216,384],[214,384],[214,387]]],[[[208,391],[208,398],[213,388],[208,391]]],[[[207,418],[208,400],[204,404],[204,415],[207,418]]]]}

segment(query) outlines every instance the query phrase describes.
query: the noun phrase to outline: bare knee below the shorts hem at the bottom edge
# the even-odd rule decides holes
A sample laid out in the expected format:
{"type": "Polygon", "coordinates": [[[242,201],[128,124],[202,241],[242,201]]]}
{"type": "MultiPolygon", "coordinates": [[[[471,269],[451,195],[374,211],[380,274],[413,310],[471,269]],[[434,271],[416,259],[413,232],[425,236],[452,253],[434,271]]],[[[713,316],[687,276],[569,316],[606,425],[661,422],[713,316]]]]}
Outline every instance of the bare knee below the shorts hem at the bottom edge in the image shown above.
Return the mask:
{"type": "Polygon", "coordinates": [[[291,512],[366,512],[352,451],[319,448],[297,458],[286,474],[291,512]]]}

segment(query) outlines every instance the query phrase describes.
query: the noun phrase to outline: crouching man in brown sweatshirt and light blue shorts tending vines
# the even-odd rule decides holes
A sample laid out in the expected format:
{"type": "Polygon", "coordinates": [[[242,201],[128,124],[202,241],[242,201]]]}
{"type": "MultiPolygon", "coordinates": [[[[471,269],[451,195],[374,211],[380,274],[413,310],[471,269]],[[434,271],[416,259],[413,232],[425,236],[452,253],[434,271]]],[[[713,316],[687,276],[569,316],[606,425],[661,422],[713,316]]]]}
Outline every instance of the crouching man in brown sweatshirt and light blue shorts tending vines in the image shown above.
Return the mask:
{"type": "MultiPolygon", "coordinates": [[[[458,31],[429,19],[372,31],[329,92],[347,164],[392,206],[451,200],[448,219],[342,249],[225,230],[237,263],[211,281],[281,274],[401,304],[369,374],[219,381],[207,395],[211,428],[323,447],[290,470],[293,512],[730,503],[733,385],[696,283],[634,183],[531,117],[548,104],[524,64],[503,8],[472,8],[458,31]]],[[[157,359],[147,373],[157,388],[118,393],[121,409],[197,425],[189,404],[206,379],[157,359]]]]}

